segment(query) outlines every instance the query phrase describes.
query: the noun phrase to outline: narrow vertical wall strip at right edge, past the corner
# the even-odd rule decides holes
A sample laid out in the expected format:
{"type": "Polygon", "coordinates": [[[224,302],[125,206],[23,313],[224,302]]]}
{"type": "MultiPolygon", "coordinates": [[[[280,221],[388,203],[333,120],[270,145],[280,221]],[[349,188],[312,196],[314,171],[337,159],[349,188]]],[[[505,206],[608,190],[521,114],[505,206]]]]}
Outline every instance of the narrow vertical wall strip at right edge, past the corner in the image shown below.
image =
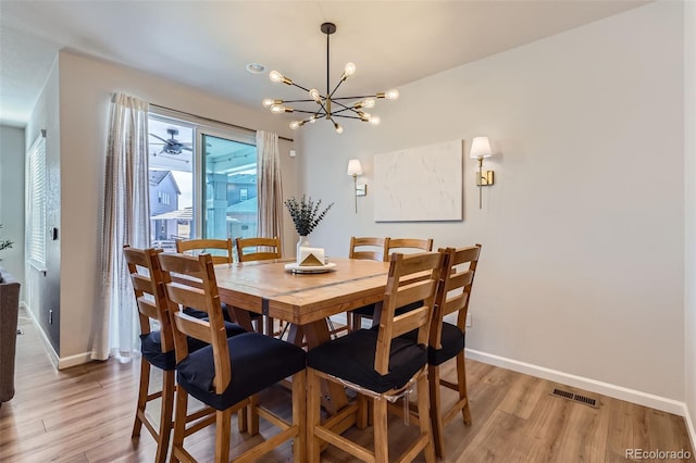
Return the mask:
{"type": "Polygon", "coordinates": [[[684,376],[687,425],[696,448],[696,2],[685,2],[684,13],[684,376]]]}

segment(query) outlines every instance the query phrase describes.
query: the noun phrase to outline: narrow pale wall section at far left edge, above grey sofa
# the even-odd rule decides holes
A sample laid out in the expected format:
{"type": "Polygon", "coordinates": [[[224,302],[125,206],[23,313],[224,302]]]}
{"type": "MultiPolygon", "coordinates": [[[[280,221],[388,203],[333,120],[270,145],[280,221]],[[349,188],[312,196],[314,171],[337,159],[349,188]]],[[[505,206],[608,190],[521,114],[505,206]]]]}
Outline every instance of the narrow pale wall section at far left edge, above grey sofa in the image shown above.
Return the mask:
{"type": "MultiPolygon", "coordinates": [[[[24,292],[24,128],[0,125],[0,240],[13,241],[0,252],[0,266],[24,292]]],[[[24,297],[22,296],[23,300],[24,297]]]]}

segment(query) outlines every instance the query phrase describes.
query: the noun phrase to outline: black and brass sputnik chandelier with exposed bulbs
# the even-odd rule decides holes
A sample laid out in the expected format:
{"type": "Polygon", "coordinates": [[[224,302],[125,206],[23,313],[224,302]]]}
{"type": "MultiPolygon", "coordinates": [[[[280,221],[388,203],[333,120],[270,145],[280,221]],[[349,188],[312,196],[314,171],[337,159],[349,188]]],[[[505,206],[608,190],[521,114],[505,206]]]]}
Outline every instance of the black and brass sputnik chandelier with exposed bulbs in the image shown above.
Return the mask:
{"type": "Polygon", "coordinates": [[[399,90],[391,89],[375,95],[363,95],[357,97],[335,97],[338,87],[350,76],[356,73],[356,65],[353,63],[346,64],[344,73],[340,76],[338,84],[332,89],[328,78],[328,38],[336,32],[336,25],[334,23],[324,23],[321,26],[322,33],[326,34],[326,93],[322,95],[316,88],[304,88],[299,84],[293,82],[291,78],[281,74],[277,71],[271,71],[270,78],[275,83],[283,83],[293,87],[297,87],[309,93],[308,99],[303,100],[278,100],[266,98],[263,100],[263,107],[269,108],[274,114],[283,113],[304,113],[311,114],[304,120],[290,122],[290,128],[297,129],[307,123],[314,124],[320,118],[326,118],[332,124],[338,134],[344,132],[344,128],[338,124],[336,118],[355,118],[362,122],[369,122],[373,125],[380,124],[380,117],[372,115],[364,110],[374,108],[376,99],[386,98],[387,100],[396,100],[399,98],[399,90]],[[296,109],[287,105],[287,103],[314,103],[313,109],[296,109]]]}

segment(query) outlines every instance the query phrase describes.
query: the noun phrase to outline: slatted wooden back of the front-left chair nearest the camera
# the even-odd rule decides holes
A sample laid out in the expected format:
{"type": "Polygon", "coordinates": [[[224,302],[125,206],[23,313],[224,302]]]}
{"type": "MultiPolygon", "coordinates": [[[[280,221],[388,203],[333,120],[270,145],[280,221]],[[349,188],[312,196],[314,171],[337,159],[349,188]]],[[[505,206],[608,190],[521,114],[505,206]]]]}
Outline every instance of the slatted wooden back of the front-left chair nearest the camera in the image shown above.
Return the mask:
{"type": "Polygon", "coordinates": [[[222,393],[229,385],[232,370],[213,259],[208,253],[199,255],[161,253],[158,259],[166,281],[164,289],[172,317],[176,362],[188,356],[186,336],[211,345],[215,365],[213,386],[216,393],[222,393]],[[176,283],[172,283],[172,274],[182,277],[177,278],[176,283]],[[203,311],[208,313],[209,321],[188,316],[183,312],[183,308],[203,311]]]}

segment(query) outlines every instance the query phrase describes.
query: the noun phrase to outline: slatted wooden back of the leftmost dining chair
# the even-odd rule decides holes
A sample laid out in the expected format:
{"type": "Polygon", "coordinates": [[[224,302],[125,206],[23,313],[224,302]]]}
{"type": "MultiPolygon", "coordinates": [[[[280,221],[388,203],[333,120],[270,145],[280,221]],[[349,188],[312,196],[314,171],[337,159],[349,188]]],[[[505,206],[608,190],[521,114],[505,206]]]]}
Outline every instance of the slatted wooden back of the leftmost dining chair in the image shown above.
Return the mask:
{"type": "Polygon", "coordinates": [[[137,249],[128,245],[123,247],[123,255],[128,265],[130,281],[135,299],[138,304],[138,318],[140,321],[140,333],[150,333],[150,320],[156,320],[160,325],[160,336],[162,352],[174,349],[172,337],[172,326],[167,314],[166,297],[164,295],[160,263],[157,260],[161,249],[137,249]]]}

